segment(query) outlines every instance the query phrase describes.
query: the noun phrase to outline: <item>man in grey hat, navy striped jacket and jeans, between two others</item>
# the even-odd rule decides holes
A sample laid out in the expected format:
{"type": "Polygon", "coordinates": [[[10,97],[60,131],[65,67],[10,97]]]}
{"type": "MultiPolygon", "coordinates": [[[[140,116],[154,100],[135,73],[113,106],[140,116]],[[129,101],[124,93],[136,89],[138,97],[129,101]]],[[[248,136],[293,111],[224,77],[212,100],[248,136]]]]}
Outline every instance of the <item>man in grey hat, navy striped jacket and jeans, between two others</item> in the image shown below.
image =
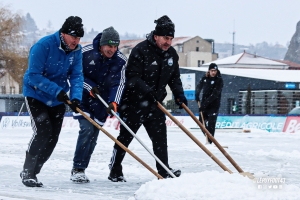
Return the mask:
{"type": "MultiPolygon", "coordinates": [[[[126,57],[118,50],[120,37],[118,32],[109,27],[99,33],[93,44],[83,47],[83,94],[81,109],[100,126],[104,124],[111,110],[117,112],[124,84],[126,57]],[[100,95],[108,104],[97,98],[100,95]]],[[[76,183],[88,183],[85,175],[91,155],[97,144],[99,129],[80,114],[74,114],[78,119],[80,130],[73,159],[73,169],[70,179],[76,183]]]]}

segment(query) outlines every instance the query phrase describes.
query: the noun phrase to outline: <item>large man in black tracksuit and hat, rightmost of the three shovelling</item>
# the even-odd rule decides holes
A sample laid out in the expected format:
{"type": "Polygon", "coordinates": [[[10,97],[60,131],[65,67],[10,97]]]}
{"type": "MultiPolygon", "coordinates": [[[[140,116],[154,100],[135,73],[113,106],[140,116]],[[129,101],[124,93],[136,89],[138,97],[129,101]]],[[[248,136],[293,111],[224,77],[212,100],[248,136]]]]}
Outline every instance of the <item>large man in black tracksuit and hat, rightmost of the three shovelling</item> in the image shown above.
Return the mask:
{"type": "MultiPolygon", "coordinates": [[[[162,102],[167,95],[166,85],[169,85],[178,105],[187,104],[180,80],[178,55],[171,46],[175,26],[168,16],[162,16],[154,21],[157,25],[147,39],[132,49],[126,68],[126,89],[120,104],[120,117],[133,132],[144,125],[152,141],[154,154],[167,166],[167,127],[165,114],[157,107],[157,101],[162,102]]],[[[133,136],[121,125],[117,138],[126,147],[133,136]]],[[[108,179],[113,182],[125,182],[122,173],[122,161],[125,151],[114,145],[108,179]]],[[[158,173],[171,177],[166,170],[156,162],[158,173]]],[[[170,168],[171,169],[171,168],[170,168]]],[[[181,171],[171,169],[176,176],[181,171]]]]}

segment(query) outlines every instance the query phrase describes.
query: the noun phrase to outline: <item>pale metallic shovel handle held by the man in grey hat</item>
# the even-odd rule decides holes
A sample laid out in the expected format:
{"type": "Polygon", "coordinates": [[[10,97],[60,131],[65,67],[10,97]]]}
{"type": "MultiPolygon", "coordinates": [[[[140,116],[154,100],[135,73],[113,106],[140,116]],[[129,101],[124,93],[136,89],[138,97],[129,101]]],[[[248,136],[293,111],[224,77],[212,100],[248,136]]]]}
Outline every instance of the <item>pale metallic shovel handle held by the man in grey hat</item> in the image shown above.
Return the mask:
{"type": "MultiPolygon", "coordinates": [[[[102,97],[98,94],[96,94],[97,98],[105,105],[106,108],[108,108],[108,104],[102,99],[102,97]]],[[[125,124],[125,122],[113,111],[111,110],[111,113],[119,120],[119,122],[131,133],[137,141],[153,156],[153,158],[173,177],[176,178],[176,176],[171,172],[171,170],[161,162],[161,160],[141,141],[141,139],[125,124]]]]}

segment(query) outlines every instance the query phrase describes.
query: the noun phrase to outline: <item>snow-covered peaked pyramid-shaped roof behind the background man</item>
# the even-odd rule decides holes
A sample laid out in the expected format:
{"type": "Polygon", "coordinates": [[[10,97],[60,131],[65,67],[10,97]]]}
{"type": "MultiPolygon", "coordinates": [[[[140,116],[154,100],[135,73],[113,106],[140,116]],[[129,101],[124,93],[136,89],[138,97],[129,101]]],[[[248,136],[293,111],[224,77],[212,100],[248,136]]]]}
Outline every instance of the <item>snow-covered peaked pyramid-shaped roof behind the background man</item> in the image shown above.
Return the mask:
{"type": "Polygon", "coordinates": [[[256,69],[288,69],[285,63],[264,58],[250,53],[240,53],[220,60],[215,60],[203,64],[208,66],[210,63],[216,63],[219,68],[256,68],[256,69]]]}

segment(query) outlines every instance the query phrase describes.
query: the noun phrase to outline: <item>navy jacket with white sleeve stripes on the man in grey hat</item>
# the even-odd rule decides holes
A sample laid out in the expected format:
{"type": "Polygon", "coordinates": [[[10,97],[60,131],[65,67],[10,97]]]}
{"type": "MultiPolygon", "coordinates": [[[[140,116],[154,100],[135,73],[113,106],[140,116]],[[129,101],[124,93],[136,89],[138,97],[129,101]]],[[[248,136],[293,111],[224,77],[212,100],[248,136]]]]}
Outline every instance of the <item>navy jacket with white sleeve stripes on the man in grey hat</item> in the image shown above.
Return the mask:
{"type": "MultiPolygon", "coordinates": [[[[90,91],[97,86],[101,98],[107,104],[120,103],[125,86],[125,67],[127,58],[117,50],[111,58],[105,58],[99,51],[99,41],[102,33],[93,40],[93,44],[82,48],[82,66],[84,74],[83,94],[80,108],[99,125],[103,125],[108,114],[106,107],[90,91]]],[[[73,113],[74,119],[83,118],[79,113],[73,113]]]]}

